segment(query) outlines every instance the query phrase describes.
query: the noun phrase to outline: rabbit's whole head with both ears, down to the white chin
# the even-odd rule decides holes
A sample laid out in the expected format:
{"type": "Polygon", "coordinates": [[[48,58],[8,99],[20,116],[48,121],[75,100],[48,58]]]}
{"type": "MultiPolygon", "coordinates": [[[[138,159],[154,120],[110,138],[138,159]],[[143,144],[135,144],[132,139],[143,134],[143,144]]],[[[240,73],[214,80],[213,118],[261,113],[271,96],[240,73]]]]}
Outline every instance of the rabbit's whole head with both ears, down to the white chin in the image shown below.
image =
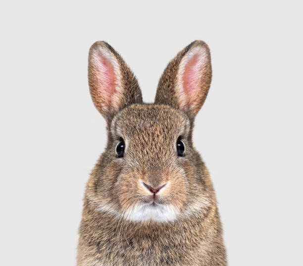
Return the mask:
{"type": "Polygon", "coordinates": [[[209,49],[195,41],[168,64],[154,103],[145,104],[121,56],[96,42],[89,53],[89,86],[108,135],[87,186],[87,203],[141,222],[206,212],[215,199],[192,130],[210,82],[209,49]]]}

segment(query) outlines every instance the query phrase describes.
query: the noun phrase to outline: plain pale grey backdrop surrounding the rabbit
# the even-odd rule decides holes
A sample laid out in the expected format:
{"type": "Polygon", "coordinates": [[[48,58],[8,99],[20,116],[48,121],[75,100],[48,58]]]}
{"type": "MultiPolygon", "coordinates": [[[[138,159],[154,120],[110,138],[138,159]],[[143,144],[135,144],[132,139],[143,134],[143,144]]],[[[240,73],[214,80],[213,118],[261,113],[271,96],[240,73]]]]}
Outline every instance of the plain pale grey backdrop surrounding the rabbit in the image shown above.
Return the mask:
{"type": "Polygon", "coordinates": [[[146,102],[176,53],[209,45],[194,144],[229,265],[303,265],[302,26],[300,1],[3,1],[0,265],[75,265],[85,183],[106,142],[87,81],[98,40],[146,102]]]}

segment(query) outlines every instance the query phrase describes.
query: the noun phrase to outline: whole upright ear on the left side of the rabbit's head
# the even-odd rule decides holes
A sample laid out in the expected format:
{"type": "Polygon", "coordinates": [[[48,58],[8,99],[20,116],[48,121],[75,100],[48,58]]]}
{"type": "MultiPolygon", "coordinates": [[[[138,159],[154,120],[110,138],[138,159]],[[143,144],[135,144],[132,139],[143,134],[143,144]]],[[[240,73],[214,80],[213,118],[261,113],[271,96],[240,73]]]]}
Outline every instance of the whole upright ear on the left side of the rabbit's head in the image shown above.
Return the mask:
{"type": "Polygon", "coordinates": [[[96,42],[90,49],[88,78],[94,105],[107,121],[125,106],[142,103],[133,72],[105,42],[96,42]]]}

